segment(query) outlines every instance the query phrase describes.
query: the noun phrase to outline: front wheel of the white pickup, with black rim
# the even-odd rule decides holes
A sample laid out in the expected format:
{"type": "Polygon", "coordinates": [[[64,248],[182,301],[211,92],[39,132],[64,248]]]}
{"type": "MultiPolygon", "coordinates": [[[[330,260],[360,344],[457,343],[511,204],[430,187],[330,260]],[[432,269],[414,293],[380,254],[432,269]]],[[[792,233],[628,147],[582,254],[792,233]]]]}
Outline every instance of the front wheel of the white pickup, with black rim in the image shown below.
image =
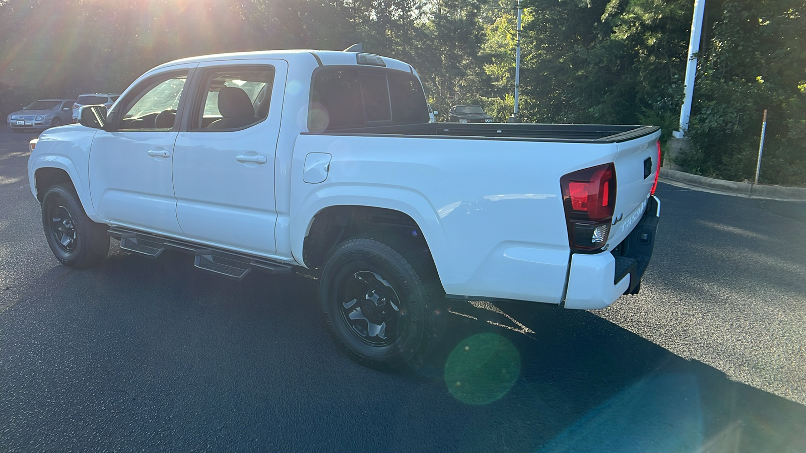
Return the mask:
{"type": "Polygon", "coordinates": [[[87,217],[70,185],[54,185],[45,193],[42,226],[53,255],[65,266],[91,268],[109,254],[108,226],[87,217]]]}

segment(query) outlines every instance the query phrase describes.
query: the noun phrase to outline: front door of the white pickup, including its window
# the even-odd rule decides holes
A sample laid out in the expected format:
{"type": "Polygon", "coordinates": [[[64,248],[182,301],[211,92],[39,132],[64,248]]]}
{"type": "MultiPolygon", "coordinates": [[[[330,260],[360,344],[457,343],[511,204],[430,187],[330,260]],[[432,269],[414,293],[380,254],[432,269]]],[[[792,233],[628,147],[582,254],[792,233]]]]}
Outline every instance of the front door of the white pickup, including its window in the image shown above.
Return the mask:
{"type": "Polygon", "coordinates": [[[188,73],[177,69],[139,82],[110,114],[112,131],[93,138],[89,193],[108,222],[181,235],[172,164],[188,73]]]}

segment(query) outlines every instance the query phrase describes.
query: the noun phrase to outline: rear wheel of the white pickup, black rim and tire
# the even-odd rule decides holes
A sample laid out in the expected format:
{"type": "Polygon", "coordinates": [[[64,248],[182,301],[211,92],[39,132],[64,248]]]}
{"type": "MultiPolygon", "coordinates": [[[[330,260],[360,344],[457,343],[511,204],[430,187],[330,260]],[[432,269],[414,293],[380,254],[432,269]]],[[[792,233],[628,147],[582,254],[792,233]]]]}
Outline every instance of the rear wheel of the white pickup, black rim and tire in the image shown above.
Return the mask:
{"type": "Polygon", "coordinates": [[[355,238],[326,260],[319,300],[339,346],[355,362],[417,367],[436,343],[444,293],[430,255],[393,238],[355,238]]]}

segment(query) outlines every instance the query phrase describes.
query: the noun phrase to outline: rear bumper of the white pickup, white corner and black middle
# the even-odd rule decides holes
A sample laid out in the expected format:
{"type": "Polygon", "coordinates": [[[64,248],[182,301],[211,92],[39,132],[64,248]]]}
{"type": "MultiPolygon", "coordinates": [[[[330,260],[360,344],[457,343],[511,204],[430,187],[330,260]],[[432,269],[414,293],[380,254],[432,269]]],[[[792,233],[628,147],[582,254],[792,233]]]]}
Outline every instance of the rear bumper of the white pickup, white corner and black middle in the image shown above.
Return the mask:
{"type": "Polygon", "coordinates": [[[650,263],[660,218],[660,200],[654,195],[633,231],[612,252],[571,255],[565,308],[605,308],[625,293],[638,293],[650,263]]]}

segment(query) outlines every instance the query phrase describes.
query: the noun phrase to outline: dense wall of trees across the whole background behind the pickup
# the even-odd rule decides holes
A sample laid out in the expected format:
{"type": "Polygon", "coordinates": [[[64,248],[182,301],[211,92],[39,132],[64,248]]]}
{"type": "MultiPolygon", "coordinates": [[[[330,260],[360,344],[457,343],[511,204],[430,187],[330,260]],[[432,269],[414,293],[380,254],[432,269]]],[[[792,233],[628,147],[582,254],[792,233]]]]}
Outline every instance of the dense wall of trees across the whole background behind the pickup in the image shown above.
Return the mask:
{"type": "MultiPolygon", "coordinates": [[[[693,0],[522,0],[521,120],[677,127],[693,0]]],[[[0,0],[0,111],[120,92],[167,60],[347,48],[408,61],[434,110],[513,111],[515,0],[0,0]]],[[[708,0],[694,172],[806,185],[806,2],[708,0]]]]}

